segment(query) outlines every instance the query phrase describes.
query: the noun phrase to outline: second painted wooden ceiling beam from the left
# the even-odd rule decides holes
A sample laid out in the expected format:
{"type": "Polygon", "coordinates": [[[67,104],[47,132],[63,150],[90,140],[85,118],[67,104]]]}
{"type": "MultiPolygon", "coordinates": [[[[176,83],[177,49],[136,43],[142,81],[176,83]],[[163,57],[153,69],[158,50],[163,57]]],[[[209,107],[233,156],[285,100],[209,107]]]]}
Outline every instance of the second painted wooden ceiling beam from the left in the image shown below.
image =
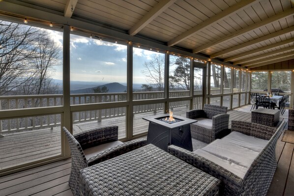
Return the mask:
{"type": "Polygon", "coordinates": [[[137,34],[142,28],[146,27],[151,21],[153,21],[159,14],[164,12],[176,0],[160,0],[143,18],[132,28],[129,29],[130,35],[137,34]]]}

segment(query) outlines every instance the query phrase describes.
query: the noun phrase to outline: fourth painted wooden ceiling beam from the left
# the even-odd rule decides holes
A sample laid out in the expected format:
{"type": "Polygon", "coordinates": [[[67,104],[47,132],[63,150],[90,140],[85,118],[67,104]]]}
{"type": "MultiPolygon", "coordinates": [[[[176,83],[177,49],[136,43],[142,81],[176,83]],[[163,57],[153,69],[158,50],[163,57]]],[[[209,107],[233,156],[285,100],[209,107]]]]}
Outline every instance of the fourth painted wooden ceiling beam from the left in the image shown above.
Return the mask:
{"type": "Polygon", "coordinates": [[[235,38],[235,37],[237,37],[239,35],[247,33],[247,32],[249,32],[251,30],[255,30],[257,28],[263,27],[263,26],[265,26],[265,25],[267,25],[269,23],[273,23],[275,21],[286,18],[286,17],[288,17],[290,15],[293,15],[293,14],[294,14],[294,7],[291,8],[291,9],[287,9],[286,11],[281,12],[279,14],[276,14],[274,16],[271,16],[269,18],[266,18],[266,19],[264,19],[264,20],[262,20],[262,21],[260,21],[258,23],[255,23],[255,24],[249,26],[249,27],[241,28],[241,29],[239,29],[239,30],[237,30],[237,31],[235,31],[233,33],[230,33],[230,34],[224,36],[224,37],[216,39],[216,40],[214,40],[212,42],[209,42],[209,43],[207,43],[207,44],[205,44],[203,46],[200,46],[198,48],[195,48],[195,49],[193,49],[193,53],[199,53],[201,51],[204,51],[207,48],[210,48],[210,47],[215,46],[217,44],[223,43],[223,42],[228,41],[230,39],[233,39],[233,38],[235,38]]]}

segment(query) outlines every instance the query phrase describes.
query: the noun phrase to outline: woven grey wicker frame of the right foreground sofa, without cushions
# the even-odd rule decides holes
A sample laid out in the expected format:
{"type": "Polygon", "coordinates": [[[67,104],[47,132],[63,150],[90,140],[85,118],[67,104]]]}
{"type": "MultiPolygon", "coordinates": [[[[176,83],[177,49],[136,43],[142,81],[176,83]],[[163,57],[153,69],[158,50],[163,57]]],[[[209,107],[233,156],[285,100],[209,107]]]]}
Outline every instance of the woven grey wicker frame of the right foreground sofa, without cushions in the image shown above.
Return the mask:
{"type": "Polygon", "coordinates": [[[199,155],[177,146],[169,146],[169,153],[220,179],[220,195],[265,196],[277,167],[275,157],[276,142],[285,127],[285,124],[285,122],[281,123],[275,132],[272,132],[272,129],[267,127],[269,131],[265,132],[265,126],[263,125],[250,122],[232,121],[232,128],[235,131],[240,131],[241,133],[255,137],[261,136],[262,139],[270,138],[265,145],[265,148],[253,161],[251,167],[244,176],[244,179],[199,155]],[[250,128],[240,130],[248,126],[250,128]]]}

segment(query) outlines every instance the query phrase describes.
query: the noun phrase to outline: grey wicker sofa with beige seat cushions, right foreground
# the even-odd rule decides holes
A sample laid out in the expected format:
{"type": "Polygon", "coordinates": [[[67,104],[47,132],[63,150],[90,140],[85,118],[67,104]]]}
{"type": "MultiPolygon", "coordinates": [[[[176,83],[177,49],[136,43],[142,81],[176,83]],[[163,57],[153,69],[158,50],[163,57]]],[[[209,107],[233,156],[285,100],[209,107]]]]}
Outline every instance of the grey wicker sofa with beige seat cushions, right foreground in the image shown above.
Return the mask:
{"type": "MultiPolygon", "coordinates": [[[[199,155],[201,153],[190,152],[175,145],[169,146],[169,153],[220,179],[220,195],[264,196],[277,167],[275,146],[284,126],[285,122],[276,129],[275,127],[251,122],[232,121],[232,133],[222,139],[225,142],[215,140],[207,145],[210,150],[221,148],[223,152],[227,151],[225,154],[231,156],[229,157],[231,159],[228,159],[227,155],[222,153],[206,157],[199,155]],[[242,137],[239,137],[239,139],[233,137],[232,140],[232,135],[234,134],[242,137]],[[214,143],[218,145],[214,145],[214,143]],[[240,146],[236,147],[235,143],[240,146]],[[222,146],[222,144],[225,145],[222,146]],[[228,148],[229,144],[231,147],[228,148]],[[240,150],[240,148],[242,149],[240,150]],[[252,153],[256,155],[255,158],[250,156],[252,153]],[[248,156],[250,156],[251,160],[248,156]],[[243,159],[246,160],[244,161],[243,159]],[[226,163],[227,161],[229,164],[226,163]],[[246,161],[247,164],[250,164],[248,168],[242,167],[243,162],[246,161]],[[244,169],[243,172],[240,171],[240,168],[244,169]]],[[[204,148],[200,150],[204,151],[204,148]]]]}

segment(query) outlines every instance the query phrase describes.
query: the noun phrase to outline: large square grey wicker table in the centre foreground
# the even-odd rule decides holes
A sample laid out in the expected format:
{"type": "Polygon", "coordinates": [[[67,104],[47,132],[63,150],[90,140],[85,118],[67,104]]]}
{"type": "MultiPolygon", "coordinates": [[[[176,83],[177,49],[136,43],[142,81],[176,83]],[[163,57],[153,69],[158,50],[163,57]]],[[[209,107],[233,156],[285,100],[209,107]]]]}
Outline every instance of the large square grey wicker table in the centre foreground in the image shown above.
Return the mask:
{"type": "Polygon", "coordinates": [[[83,196],[216,196],[220,181],[149,144],[81,170],[83,196]]]}

